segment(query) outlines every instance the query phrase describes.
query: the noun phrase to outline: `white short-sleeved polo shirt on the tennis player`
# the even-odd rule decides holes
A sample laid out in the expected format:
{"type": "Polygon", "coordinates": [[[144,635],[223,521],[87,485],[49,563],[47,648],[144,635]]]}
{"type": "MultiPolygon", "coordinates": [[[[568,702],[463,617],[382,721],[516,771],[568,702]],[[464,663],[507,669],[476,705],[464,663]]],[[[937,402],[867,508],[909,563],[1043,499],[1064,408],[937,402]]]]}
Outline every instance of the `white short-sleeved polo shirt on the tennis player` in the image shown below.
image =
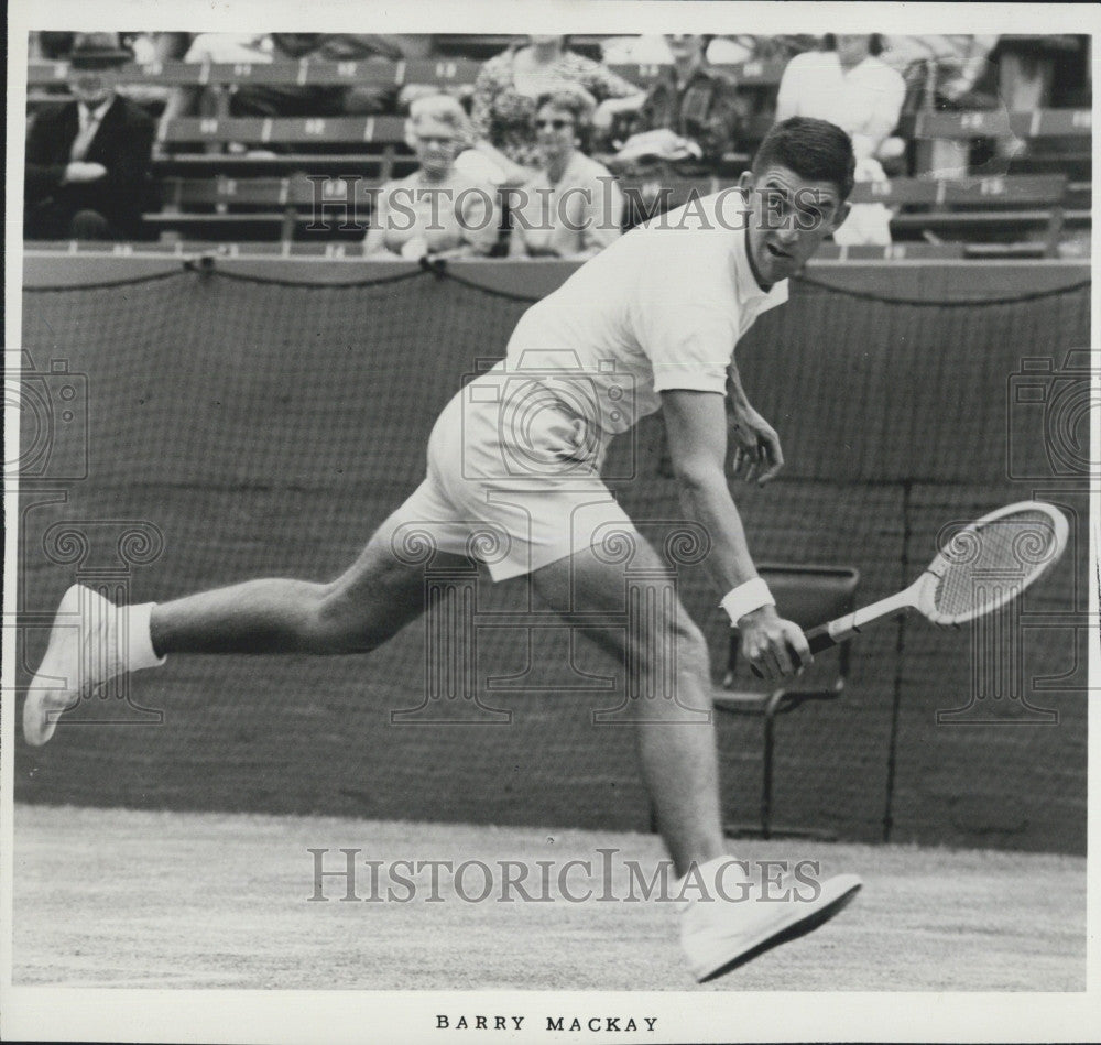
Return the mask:
{"type": "Polygon", "coordinates": [[[724,393],[739,339],[787,301],[786,280],[753,276],[748,210],[728,189],[628,232],[524,313],[499,367],[550,388],[574,375],[607,435],[657,411],[659,392],[724,393]]]}

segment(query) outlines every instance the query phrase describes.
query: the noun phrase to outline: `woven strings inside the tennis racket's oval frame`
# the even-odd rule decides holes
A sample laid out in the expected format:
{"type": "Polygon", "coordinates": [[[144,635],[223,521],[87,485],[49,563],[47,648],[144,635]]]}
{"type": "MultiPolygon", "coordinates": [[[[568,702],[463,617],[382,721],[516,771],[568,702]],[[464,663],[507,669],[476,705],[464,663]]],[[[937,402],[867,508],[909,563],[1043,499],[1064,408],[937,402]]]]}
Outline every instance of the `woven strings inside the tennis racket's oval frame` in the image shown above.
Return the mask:
{"type": "Polygon", "coordinates": [[[941,549],[934,602],[947,617],[972,614],[1018,594],[1059,554],[1055,525],[1035,509],[955,534],[941,549]]]}

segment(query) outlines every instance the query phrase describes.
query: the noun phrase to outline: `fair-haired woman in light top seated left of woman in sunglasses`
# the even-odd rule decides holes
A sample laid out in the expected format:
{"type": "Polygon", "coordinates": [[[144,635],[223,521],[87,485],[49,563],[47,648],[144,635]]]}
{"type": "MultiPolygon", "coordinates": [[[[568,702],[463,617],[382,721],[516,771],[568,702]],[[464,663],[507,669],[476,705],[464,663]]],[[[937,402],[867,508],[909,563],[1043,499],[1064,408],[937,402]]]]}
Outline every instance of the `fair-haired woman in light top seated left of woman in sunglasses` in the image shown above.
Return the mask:
{"type": "Polygon", "coordinates": [[[450,95],[418,98],[410,107],[406,140],[419,170],[382,187],[363,252],[401,258],[488,254],[498,239],[495,191],[456,170],[456,156],[470,141],[462,106],[450,95]]]}

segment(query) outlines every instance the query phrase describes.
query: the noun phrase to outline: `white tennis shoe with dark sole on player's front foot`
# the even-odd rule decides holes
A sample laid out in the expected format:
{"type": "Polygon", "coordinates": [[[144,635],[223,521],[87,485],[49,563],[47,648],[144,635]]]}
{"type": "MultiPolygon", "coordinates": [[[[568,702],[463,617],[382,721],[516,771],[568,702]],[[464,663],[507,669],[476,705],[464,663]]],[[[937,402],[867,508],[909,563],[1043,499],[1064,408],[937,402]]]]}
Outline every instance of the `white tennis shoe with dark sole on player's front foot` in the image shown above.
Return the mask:
{"type": "Polygon", "coordinates": [[[693,976],[706,983],[805,936],[843,911],[862,884],[855,874],[838,874],[814,900],[765,900],[755,883],[744,900],[690,900],[680,915],[680,946],[693,976]]]}

